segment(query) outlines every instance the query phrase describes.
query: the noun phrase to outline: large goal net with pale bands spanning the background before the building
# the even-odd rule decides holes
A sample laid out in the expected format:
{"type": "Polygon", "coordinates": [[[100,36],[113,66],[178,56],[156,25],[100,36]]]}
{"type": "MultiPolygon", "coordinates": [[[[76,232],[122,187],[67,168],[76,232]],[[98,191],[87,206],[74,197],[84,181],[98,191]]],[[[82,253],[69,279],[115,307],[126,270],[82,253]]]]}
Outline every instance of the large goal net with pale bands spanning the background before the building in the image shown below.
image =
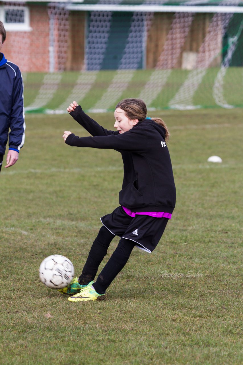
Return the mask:
{"type": "Polygon", "coordinates": [[[243,106],[242,4],[4,3],[7,25],[25,22],[28,10],[29,31],[7,33],[26,111],[62,113],[73,100],[107,111],[125,97],[149,110],[243,106]]]}

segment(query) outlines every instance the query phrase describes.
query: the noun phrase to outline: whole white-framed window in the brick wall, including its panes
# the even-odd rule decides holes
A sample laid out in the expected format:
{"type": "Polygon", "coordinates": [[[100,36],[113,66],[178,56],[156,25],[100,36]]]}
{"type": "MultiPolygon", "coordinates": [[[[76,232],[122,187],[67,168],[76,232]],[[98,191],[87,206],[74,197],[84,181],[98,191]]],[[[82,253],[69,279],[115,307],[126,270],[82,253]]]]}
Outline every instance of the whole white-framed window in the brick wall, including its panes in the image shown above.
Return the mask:
{"type": "Polygon", "coordinates": [[[6,31],[31,31],[30,12],[26,6],[1,6],[0,20],[6,31]]]}

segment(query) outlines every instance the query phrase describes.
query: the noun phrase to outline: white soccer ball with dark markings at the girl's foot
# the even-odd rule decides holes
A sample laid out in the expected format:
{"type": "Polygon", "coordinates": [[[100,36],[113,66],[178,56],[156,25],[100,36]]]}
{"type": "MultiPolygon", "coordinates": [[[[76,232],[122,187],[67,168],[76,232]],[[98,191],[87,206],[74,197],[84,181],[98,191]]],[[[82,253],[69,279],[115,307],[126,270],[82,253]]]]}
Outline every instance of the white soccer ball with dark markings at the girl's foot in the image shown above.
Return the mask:
{"type": "Polygon", "coordinates": [[[40,264],[39,276],[48,288],[65,288],[74,277],[74,266],[67,257],[51,255],[40,264]]]}

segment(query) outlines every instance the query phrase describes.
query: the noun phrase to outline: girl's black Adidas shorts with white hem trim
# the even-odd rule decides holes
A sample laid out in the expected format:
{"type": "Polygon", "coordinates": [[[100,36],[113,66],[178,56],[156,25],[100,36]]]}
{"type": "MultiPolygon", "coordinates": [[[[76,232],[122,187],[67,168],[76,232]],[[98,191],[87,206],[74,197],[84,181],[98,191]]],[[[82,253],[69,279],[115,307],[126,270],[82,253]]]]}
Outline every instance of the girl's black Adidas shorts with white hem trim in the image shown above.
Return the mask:
{"type": "Polygon", "coordinates": [[[168,218],[149,215],[130,217],[120,206],[101,217],[102,224],[114,235],[131,239],[141,250],[151,253],[164,233],[168,218]]]}

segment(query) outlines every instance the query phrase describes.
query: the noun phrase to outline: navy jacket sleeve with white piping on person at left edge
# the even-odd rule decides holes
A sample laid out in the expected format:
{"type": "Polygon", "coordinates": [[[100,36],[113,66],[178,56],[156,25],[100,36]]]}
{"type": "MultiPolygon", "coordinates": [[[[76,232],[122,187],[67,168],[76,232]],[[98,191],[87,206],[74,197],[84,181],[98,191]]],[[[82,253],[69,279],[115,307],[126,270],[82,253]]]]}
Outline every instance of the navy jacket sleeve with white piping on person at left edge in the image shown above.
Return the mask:
{"type": "Polygon", "coordinates": [[[9,120],[10,132],[8,135],[9,148],[20,150],[24,144],[24,101],[23,101],[23,80],[19,68],[16,70],[16,77],[13,84],[12,110],[9,120]]]}

